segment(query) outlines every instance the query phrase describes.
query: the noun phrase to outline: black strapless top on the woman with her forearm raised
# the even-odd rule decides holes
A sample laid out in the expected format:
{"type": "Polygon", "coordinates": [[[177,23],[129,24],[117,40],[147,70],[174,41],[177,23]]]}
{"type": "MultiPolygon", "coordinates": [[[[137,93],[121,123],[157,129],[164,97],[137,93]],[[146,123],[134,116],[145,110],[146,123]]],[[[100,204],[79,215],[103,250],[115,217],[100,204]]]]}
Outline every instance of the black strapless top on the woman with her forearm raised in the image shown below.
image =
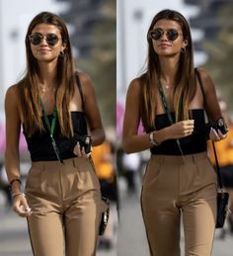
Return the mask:
{"type": "MultiPolygon", "coordinates": [[[[200,153],[206,150],[206,126],[204,122],[203,109],[192,110],[194,119],[194,132],[186,137],[180,138],[181,148],[184,154],[200,153]]],[[[175,114],[172,113],[175,122],[175,114]]],[[[155,118],[155,128],[161,129],[170,126],[167,114],[157,115],[155,118]]],[[[150,149],[152,154],[181,155],[176,139],[168,139],[158,146],[150,149]]]]}

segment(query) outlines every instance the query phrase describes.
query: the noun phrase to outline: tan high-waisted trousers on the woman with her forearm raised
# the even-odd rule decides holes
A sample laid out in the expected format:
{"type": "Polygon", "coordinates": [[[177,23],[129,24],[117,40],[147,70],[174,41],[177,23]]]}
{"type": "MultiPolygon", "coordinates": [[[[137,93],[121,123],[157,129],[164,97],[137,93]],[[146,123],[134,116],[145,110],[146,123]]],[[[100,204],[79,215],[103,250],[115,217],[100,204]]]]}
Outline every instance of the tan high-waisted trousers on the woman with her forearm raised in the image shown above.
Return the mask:
{"type": "Polygon", "coordinates": [[[211,254],[216,216],[216,174],[206,153],[152,155],[141,206],[152,256],[180,256],[183,216],[186,256],[211,254]]]}

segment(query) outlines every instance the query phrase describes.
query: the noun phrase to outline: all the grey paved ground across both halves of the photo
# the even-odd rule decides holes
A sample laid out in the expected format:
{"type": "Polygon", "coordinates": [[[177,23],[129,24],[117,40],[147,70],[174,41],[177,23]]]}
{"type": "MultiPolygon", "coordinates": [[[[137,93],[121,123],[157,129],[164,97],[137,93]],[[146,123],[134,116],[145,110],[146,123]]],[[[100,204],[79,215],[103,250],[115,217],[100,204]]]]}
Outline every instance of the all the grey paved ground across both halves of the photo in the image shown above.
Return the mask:
{"type": "MultiPolygon", "coordinates": [[[[140,212],[139,193],[127,196],[125,185],[121,180],[119,180],[119,191],[121,203],[117,247],[110,251],[99,250],[97,256],[149,256],[140,212]]],[[[33,256],[25,219],[5,208],[1,193],[0,219],[0,256],[33,256]]],[[[212,256],[232,256],[233,236],[227,235],[224,240],[219,239],[218,236],[219,231],[216,232],[212,256]]],[[[184,246],[183,240],[181,246],[182,248],[184,246]]]]}

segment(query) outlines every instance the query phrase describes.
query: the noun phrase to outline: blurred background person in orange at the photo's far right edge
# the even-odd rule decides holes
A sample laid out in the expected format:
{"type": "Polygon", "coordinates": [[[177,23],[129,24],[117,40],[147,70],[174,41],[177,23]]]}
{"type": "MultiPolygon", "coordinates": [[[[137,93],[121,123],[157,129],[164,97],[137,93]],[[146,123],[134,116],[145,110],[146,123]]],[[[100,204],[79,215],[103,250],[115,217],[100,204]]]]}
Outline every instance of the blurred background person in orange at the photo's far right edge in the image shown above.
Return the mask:
{"type": "MultiPolygon", "coordinates": [[[[230,211],[228,212],[227,219],[229,223],[229,231],[233,235],[233,123],[228,114],[226,103],[223,100],[219,100],[219,105],[228,127],[228,135],[226,139],[215,143],[215,148],[217,152],[217,159],[220,168],[222,183],[229,193],[230,211]]],[[[212,143],[210,142],[208,143],[208,153],[211,163],[215,167],[215,157],[212,143]]],[[[225,235],[226,229],[223,228],[220,237],[224,238],[225,235]]]]}

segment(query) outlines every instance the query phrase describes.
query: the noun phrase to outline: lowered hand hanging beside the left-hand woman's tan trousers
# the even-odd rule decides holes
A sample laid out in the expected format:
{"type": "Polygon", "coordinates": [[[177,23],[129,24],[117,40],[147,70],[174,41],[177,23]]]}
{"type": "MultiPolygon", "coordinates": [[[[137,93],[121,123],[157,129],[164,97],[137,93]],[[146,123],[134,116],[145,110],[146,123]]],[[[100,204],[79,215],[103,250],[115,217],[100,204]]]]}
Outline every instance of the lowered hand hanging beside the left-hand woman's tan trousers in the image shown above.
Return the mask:
{"type": "Polygon", "coordinates": [[[28,217],[33,213],[27,203],[24,193],[19,193],[14,196],[12,208],[14,212],[18,213],[22,217],[28,217]]]}

